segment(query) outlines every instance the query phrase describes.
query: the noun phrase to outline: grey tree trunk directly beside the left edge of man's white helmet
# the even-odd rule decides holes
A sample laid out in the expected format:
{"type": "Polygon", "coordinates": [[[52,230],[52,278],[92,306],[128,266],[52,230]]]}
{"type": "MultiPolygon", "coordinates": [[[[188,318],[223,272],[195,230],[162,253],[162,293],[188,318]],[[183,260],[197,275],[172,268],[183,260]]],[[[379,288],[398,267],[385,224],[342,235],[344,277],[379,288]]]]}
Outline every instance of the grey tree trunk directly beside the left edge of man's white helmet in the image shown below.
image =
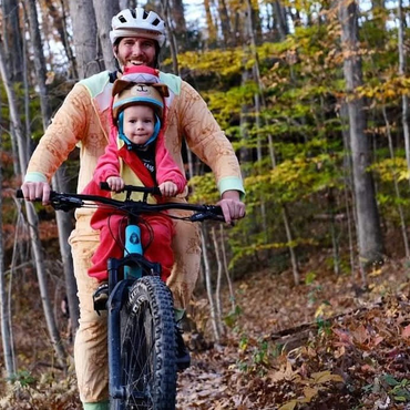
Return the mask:
{"type": "Polygon", "coordinates": [[[93,6],[104,65],[106,70],[114,71],[116,65],[110,40],[110,30],[113,16],[120,12],[119,0],[93,0],[93,6]]]}

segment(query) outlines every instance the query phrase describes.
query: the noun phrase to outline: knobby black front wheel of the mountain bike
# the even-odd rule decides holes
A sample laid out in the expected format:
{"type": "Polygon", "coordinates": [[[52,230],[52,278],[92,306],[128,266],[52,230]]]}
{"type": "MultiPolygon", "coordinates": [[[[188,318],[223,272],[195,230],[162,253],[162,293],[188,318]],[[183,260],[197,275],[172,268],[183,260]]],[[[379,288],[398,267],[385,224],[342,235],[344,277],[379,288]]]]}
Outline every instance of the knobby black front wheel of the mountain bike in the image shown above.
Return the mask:
{"type": "Polygon", "coordinates": [[[171,290],[146,276],[130,288],[121,310],[124,400],[111,409],[174,410],[176,396],[175,320],[171,290]]]}

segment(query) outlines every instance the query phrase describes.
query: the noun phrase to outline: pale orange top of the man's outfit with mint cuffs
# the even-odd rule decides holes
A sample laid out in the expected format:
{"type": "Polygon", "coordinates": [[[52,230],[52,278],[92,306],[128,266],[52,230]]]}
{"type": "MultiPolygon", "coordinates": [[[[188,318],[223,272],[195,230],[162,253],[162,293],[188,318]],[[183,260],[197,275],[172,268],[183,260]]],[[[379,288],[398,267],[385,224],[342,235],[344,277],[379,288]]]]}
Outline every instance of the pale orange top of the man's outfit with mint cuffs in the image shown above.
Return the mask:
{"type": "MultiPolygon", "coordinates": [[[[185,137],[192,152],[214,172],[221,194],[229,189],[244,192],[235,152],[205,101],[176,75],[161,72],[160,81],[165,83],[171,92],[166,99],[168,111],[165,146],[180,170],[184,172],[181,152],[185,137]]],[[[92,75],[74,85],[31,156],[25,182],[50,182],[57,168],[78,146],[78,192],[84,189],[92,180],[98,160],[109,142],[112,86],[109,71],[92,75]]],[[[186,195],[187,188],[182,196],[186,195]]],[[[78,209],[76,215],[91,212],[78,209]]]]}

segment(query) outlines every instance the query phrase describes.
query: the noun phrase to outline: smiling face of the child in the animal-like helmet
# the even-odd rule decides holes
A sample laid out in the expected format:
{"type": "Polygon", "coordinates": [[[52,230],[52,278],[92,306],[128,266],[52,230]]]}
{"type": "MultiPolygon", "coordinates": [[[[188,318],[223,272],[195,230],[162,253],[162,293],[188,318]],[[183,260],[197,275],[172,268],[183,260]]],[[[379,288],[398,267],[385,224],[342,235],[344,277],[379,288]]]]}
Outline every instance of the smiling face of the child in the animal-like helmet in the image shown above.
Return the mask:
{"type": "Polygon", "coordinates": [[[124,134],[134,144],[146,143],[154,133],[154,110],[146,105],[131,105],[124,110],[124,134]]]}

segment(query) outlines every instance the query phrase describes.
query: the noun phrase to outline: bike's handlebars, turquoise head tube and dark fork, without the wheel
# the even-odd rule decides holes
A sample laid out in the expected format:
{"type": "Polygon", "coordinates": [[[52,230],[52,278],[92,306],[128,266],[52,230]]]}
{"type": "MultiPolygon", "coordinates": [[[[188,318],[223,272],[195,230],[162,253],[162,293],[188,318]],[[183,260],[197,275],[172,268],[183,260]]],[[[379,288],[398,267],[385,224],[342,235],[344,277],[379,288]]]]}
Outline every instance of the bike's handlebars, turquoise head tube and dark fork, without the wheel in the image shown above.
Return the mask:
{"type": "MultiPolygon", "coordinates": [[[[110,191],[106,183],[102,183],[101,187],[110,191]]],[[[140,227],[135,225],[136,216],[144,213],[158,213],[166,209],[187,209],[193,211],[194,214],[189,217],[174,217],[180,219],[189,219],[192,222],[201,222],[205,219],[224,221],[221,207],[215,205],[194,205],[187,203],[148,204],[146,202],[148,194],[161,195],[157,187],[147,188],[125,185],[123,191],[126,193],[125,201],[117,201],[98,195],[64,194],[53,191],[50,193],[50,204],[57,211],[68,212],[73,208],[98,207],[104,205],[129,215],[129,223],[125,230],[124,257],[120,259],[110,258],[107,262],[109,389],[110,396],[113,399],[124,399],[127,394],[125,388],[121,385],[121,328],[119,324],[120,312],[124,300],[126,300],[129,287],[137,280],[139,277],[145,275],[161,276],[161,265],[157,263],[151,263],[143,256],[141,230],[140,227]],[[143,193],[143,199],[137,202],[131,199],[131,194],[133,192],[143,193]]],[[[21,189],[18,189],[17,197],[23,197],[21,189]]],[[[39,198],[38,201],[41,199],[39,198]]]]}

